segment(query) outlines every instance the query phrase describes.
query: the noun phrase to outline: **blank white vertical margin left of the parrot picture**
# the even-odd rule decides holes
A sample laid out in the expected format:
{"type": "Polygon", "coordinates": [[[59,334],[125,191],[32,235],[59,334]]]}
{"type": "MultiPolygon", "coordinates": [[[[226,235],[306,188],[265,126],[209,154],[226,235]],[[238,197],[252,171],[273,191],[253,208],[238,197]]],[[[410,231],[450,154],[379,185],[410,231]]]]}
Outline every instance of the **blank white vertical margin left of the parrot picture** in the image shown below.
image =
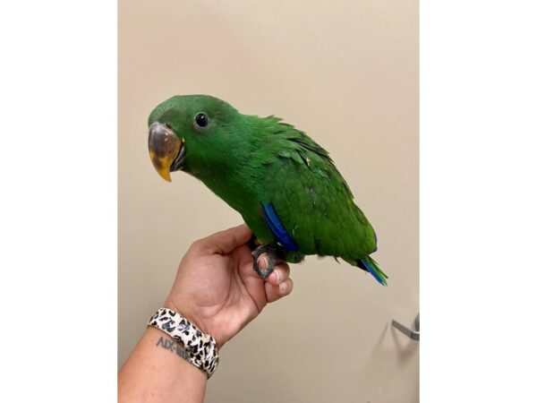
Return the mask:
{"type": "Polygon", "coordinates": [[[0,6],[0,401],[115,401],[116,4],[0,6]]]}

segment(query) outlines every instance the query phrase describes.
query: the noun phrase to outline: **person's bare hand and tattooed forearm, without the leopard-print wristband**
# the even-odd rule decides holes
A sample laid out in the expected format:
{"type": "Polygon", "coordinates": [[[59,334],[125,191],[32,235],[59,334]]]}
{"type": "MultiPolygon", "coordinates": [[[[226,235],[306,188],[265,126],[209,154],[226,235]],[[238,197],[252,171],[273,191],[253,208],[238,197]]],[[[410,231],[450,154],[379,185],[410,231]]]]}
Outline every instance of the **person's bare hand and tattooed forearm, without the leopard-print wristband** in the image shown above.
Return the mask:
{"type": "MultiPolygon", "coordinates": [[[[278,262],[266,280],[251,269],[250,238],[251,230],[241,225],[195,241],[184,255],[164,303],[213,336],[218,348],[268,303],[293,289],[286,262],[278,262]]],[[[266,259],[261,258],[261,266],[266,267],[266,259]]],[[[119,372],[120,402],[203,401],[206,374],[163,347],[172,342],[161,330],[149,327],[145,331],[119,372]]]]}

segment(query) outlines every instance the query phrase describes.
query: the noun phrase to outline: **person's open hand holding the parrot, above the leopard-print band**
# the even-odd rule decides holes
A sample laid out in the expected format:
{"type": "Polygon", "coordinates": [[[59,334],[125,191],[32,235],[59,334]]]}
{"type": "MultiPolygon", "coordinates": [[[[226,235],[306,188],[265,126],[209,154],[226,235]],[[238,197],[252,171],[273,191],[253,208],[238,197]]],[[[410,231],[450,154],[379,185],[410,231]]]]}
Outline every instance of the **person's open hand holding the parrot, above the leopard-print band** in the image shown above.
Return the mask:
{"type": "MultiPolygon", "coordinates": [[[[179,265],[165,306],[214,337],[222,347],[268,304],[293,289],[289,265],[278,262],[266,280],[252,269],[246,225],[195,241],[179,265]]],[[[262,257],[262,255],[261,255],[262,257]]],[[[261,270],[267,261],[260,259],[261,270]]]]}

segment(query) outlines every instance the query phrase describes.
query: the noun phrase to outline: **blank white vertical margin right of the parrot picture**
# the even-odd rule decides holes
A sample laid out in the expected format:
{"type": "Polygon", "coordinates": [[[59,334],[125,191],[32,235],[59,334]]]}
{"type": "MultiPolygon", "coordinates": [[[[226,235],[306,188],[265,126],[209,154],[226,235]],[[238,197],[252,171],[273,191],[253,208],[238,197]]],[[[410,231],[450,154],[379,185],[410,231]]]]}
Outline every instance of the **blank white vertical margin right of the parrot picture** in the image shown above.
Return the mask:
{"type": "Polygon", "coordinates": [[[536,15],[421,4],[422,401],[537,401],[536,15]]]}

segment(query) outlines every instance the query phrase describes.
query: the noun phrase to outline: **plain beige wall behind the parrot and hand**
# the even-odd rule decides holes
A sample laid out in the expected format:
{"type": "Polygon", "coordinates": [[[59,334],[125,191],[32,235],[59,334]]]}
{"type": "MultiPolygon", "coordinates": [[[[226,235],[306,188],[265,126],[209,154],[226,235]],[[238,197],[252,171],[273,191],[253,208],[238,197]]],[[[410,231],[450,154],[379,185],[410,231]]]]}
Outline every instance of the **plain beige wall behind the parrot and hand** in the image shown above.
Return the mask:
{"type": "Polygon", "coordinates": [[[417,401],[419,345],[388,326],[419,311],[417,0],[120,0],[119,13],[119,364],[192,240],[241,222],[149,161],[152,108],[208,93],[330,151],[390,279],[331,259],[294,265],[292,296],[226,345],[207,401],[417,401]]]}

